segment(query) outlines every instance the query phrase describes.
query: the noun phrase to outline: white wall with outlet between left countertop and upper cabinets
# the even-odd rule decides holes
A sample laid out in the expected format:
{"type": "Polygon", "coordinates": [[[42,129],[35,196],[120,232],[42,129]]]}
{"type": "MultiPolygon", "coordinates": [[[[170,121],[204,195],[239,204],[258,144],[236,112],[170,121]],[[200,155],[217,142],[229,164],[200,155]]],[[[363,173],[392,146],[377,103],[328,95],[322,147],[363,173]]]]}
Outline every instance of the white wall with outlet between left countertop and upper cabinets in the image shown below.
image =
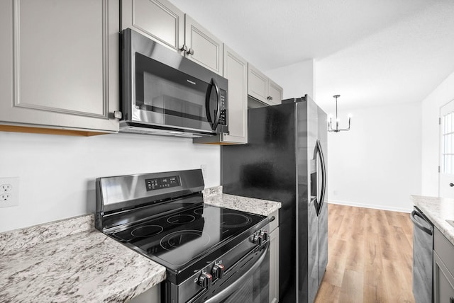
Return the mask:
{"type": "Polygon", "coordinates": [[[98,177],[206,164],[205,187],[220,184],[219,147],[184,138],[0,132],[0,159],[0,178],[20,178],[19,206],[0,208],[0,231],[94,212],[98,177]]]}

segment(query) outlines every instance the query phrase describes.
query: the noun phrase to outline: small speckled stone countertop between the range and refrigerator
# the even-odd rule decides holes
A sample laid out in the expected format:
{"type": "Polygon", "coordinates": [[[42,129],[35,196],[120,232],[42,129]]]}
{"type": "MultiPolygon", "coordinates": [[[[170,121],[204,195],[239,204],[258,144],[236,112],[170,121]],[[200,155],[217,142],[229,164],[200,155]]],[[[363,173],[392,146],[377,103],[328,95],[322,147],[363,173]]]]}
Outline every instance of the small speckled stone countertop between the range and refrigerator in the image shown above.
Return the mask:
{"type": "Polygon", "coordinates": [[[280,202],[227,195],[222,193],[222,186],[204,190],[204,203],[264,216],[269,216],[281,208],[280,202]]]}

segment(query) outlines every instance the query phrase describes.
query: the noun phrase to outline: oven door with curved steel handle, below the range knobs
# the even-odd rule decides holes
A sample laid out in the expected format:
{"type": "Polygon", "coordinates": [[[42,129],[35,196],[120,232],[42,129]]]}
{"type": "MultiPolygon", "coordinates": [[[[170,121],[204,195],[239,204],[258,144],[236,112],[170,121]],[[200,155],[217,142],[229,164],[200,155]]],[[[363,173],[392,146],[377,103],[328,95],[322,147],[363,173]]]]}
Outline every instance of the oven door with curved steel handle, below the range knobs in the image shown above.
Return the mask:
{"type": "Polygon", "coordinates": [[[269,302],[270,245],[241,258],[217,284],[188,303],[269,302]]]}

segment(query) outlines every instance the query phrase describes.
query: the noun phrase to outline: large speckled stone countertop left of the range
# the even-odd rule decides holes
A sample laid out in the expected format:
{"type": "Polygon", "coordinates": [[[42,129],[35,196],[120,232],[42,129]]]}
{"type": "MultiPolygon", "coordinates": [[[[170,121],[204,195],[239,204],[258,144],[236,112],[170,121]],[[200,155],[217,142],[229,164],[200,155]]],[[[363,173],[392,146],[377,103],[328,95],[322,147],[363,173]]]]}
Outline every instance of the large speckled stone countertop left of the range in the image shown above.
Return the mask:
{"type": "Polygon", "coordinates": [[[94,229],[94,216],[0,233],[0,302],[125,302],[165,268],[94,229]]]}

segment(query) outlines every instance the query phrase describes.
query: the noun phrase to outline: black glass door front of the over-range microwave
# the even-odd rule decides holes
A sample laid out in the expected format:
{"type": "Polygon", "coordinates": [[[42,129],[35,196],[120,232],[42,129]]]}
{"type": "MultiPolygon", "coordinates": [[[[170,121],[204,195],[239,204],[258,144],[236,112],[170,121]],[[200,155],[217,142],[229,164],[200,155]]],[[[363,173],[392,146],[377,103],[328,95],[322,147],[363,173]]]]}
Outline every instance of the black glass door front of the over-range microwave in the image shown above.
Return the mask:
{"type": "Polygon", "coordinates": [[[154,59],[135,53],[135,109],[140,120],[198,130],[211,130],[206,118],[217,97],[211,85],[154,59]]]}

